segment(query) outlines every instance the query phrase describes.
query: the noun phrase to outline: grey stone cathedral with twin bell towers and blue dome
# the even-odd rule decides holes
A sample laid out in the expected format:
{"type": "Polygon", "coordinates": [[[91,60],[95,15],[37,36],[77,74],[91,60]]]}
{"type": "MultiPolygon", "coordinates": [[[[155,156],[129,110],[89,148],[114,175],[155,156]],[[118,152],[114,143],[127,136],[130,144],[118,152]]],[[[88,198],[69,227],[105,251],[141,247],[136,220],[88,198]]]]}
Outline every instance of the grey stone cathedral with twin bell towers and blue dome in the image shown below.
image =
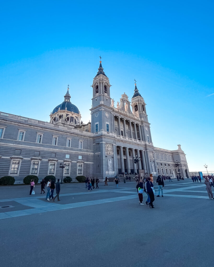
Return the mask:
{"type": "Polygon", "coordinates": [[[106,176],[137,172],[172,178],[180,172],[188,178],[181,145],[172,151],[153,146],[146,103],[136,83],[131,101],[124,93],[114,103],[100,61],[91,87],[91,122],[87,124],[70,101],[69,87],[49,123],[0,112],[0,178],[10,175],[21,183],[27,175],[41,180],[46,175],[60,178],[62,172],[73,181],[77,175],[102,181],[106,176]]]}

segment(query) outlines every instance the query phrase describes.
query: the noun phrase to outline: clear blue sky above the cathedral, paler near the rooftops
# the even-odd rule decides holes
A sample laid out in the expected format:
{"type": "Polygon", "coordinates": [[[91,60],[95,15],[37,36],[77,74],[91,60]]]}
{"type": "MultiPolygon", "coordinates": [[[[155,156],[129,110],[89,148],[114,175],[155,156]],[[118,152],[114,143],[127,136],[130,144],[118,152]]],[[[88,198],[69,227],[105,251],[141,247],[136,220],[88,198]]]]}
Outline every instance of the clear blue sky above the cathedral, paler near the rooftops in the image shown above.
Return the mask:
{"type": "Polygon", "coordinates": [[[214,171],[211,1],[7,1],[0,22],[1,111],[49,121],[69,83],[88,122],[101,54],[115,101],[137,80],[154,146],[214,171]]]}

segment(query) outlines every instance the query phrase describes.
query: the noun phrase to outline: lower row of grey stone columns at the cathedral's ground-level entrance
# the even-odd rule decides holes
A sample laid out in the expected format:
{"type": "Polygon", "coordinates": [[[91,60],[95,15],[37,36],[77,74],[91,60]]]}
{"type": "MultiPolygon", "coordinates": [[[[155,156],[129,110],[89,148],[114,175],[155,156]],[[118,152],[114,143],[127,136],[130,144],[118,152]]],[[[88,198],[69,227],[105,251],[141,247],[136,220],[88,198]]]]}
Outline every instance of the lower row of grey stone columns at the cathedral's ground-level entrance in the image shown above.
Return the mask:
{"type": "MultiPolygon", "coordinates": [[[[133,161],[133,169],[134,172],[137,172],[137,167],[138,170],[146,170],[146,160],[145,160],[145,155],[143,150],[139,149],[134,149],[134,148],[128,148],[128,147],[122,147],[122,146],[117,146],[117,149],[120,149],[120,165],[121,165],[121,172],[125,173],[125,168],[124,168],[124,155],[123,155],[123,148],[125,148],[125,155],[126,155],[126,167],[127,167],[127,173],[129,174],[131,172],[131,167],[130,167],[130,159],[129,159],[129,149],[132,151],[132,161],[133,161]],[[141,164],[141,161],[137,163],[134,162],[134,158],[137,156],[138,158],[142,159],[143,166],[141,164]]],[[[117,157],[116,157],[117,158],[117,157]]],[[[118,174],[118,162],[117,162],[117,174],[118,174]]]]}

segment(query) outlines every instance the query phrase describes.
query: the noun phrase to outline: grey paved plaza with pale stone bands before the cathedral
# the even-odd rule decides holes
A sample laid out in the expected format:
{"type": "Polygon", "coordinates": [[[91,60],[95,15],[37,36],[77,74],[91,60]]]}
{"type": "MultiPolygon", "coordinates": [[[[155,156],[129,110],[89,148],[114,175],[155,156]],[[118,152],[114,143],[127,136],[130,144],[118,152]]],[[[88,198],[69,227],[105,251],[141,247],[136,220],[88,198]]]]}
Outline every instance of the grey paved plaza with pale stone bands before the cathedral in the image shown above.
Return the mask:
{"type": "Polygon", "coordinates": [[[167,180],[155,209],[139,205],[136,182],[90,192],[85,183],[63,184],[60,202],[45,201],[40,184],[35,195],[29,189],[0,187],[0,266],[213,264],[214,200],[203,182],[167,180]]]}

